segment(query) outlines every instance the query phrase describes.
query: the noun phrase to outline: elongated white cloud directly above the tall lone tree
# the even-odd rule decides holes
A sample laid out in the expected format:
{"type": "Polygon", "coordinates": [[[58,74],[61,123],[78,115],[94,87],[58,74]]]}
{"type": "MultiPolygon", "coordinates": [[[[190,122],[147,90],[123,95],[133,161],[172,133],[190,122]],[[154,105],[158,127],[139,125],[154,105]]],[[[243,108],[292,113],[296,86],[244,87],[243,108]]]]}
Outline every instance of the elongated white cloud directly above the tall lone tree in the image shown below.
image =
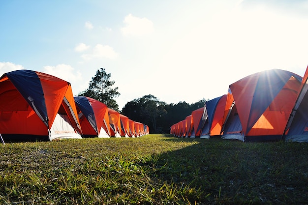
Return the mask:
{"type": "Polygon", "coordinates": [[[81,56],[85,60],[107,58],[107,59],[116,59],[118,54],[113,50],[112,47],[108,45],[97,44],[92,53],[84,54],[81,56]]]}

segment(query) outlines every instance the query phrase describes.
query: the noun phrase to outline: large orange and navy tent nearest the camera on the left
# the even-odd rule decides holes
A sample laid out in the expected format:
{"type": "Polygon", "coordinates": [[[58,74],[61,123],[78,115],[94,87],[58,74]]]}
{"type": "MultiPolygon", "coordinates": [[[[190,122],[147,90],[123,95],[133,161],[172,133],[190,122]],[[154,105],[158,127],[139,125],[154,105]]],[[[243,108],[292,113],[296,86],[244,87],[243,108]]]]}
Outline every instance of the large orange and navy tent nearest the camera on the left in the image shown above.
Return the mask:
{"type": "Polygon", "coordinates": [[[32,70],[0,78],[0,133],[5,140],[81,138],[70,83],[32,70]]]}

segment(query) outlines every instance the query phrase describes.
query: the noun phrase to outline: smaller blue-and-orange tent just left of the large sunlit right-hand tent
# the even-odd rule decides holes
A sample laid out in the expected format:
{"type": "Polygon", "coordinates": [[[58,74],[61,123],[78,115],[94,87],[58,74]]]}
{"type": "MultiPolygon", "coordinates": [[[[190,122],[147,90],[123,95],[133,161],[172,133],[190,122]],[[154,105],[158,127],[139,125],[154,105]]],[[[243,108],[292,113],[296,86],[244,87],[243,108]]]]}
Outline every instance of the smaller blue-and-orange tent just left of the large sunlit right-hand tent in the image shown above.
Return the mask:
{"type": "Polygon", "coordinates": [[[208,116],[202,128],[200,138],[210,138],[210,136],[220,135],[226,100],[227,95],[222,95],[205,103],[208,116]]]}

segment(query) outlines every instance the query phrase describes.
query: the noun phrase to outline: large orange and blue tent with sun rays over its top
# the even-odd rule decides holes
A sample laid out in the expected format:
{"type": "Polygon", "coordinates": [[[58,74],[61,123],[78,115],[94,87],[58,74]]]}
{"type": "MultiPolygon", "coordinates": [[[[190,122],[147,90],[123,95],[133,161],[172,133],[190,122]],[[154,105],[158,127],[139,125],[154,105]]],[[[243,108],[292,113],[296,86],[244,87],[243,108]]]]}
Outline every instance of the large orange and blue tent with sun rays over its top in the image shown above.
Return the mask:
{"type": "Polygon", "coordinates": [[[231,84],[222,138],[242,141],[281,139],[301,81],[302,77],[297,74],[272,69],[231,84]]]}

